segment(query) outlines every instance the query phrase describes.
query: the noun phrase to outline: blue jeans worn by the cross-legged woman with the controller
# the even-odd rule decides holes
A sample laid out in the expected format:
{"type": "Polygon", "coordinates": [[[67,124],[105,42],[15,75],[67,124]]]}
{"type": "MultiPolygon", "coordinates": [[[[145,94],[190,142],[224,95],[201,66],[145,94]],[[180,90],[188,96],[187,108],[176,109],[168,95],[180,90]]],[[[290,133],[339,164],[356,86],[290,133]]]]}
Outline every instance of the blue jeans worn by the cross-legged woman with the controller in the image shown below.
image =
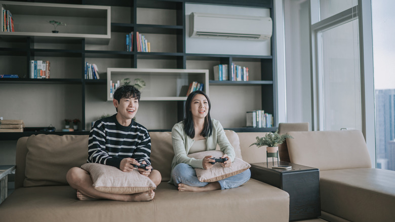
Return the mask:
{"type": "MultiPolygon", "coordinates": [[[[191,187],[204,187],[209,184],[208,182],[199,181],[193,167],[186,163],[177,164],[172,171],[172,177],[175,186],[178,186],[178,183],[183,183],[191,187]]],[[[247,182],[250,177],[251,171],[250,169],[247,169],[239,174],[230,176],[217,182],[219,182],[221,185],[221,190],[224,190],[239,187],[241,184],[247,182]]]]}

